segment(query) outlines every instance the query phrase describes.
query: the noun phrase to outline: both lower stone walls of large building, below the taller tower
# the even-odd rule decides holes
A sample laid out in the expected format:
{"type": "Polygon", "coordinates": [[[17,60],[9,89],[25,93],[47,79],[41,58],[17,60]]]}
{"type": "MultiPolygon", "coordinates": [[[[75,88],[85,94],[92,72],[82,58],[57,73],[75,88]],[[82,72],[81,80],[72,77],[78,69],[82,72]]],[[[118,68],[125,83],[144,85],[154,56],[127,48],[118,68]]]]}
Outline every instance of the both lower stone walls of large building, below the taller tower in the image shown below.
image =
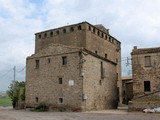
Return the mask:
{"type": "Polygon", "coordinates": [[[46,104],[51,109],[72,111],[116,108],[117,80],[116,63],[85,49],[53,44],[27,59],[26,107],[46,104]],[[67,57],[66,65],[62,65],[63,56],[67,57]],[[39,60],[38,68],[35,60],[39,60]]]}

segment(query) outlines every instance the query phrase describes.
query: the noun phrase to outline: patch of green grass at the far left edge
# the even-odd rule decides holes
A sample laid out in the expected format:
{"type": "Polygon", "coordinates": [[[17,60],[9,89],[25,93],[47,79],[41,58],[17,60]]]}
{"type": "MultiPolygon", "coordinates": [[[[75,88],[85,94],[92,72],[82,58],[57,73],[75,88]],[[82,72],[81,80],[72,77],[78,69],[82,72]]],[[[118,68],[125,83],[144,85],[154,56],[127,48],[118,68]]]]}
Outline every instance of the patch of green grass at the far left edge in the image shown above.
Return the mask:
{"type": "Polygon", "coordinates": [[[12,106],[12,101],[8,96],[0,97],[0,106],[12,106]]]}

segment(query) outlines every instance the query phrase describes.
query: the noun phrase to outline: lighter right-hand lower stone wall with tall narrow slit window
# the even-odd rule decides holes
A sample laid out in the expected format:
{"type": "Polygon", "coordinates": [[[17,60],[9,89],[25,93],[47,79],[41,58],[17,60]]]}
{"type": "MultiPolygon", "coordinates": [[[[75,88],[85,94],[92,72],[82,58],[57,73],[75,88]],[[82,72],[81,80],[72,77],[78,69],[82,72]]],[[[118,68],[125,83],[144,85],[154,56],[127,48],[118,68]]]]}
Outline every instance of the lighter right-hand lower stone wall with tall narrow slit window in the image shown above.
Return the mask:
{"type": "Polygon", "coordinates": [[[117,74],[115,64],[83,55],[83,107],[86,110],[104,110],[117,107],[117,74]]]}

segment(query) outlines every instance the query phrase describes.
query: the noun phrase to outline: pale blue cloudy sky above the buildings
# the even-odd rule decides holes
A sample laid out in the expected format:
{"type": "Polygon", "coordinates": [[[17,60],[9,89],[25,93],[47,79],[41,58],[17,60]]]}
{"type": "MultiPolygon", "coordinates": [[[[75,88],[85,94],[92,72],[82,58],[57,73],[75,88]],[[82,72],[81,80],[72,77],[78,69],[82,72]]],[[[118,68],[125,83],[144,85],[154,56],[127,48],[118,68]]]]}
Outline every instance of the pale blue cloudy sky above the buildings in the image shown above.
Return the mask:
{"type": "Polygon", "coordinates": [[[133,46],[160,47],[160,0],[0,0],[0,91],[25,80],[35,33],[87,21],[121,42],[122,75],[131,75],[133,46]]]}

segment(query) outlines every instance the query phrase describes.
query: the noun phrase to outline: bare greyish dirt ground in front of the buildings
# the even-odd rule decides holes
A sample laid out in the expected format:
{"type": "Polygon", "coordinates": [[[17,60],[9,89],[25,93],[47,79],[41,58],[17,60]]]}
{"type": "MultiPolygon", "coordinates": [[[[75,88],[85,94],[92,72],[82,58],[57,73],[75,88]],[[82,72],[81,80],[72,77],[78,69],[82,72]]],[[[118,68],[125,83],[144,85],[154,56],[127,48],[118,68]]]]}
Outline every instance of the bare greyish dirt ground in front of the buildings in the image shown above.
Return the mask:
{"type": "Polygon", "coordinates": [[[31,112],[0,108],[0,120],[160,120],[160,114],[106,110],[92,112],[31,112]]]}

